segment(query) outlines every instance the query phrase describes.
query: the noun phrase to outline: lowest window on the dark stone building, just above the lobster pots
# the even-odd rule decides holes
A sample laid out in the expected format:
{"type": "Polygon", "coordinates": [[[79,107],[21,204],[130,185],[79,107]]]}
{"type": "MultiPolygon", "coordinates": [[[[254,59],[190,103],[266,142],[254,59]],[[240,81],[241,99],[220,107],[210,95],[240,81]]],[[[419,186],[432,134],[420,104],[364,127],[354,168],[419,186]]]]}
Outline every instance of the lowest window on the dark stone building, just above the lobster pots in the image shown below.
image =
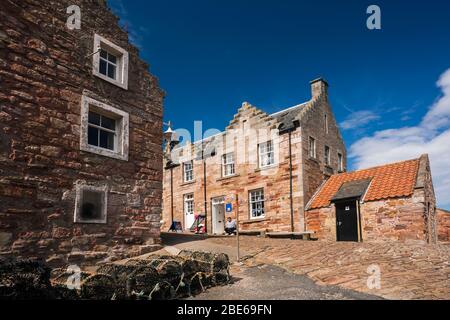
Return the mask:
{"type": "Polygon", "coordinates": [[[75,198],[75,223],[104,224],[107,221],[108,189],[77,185],[75,198]]]}

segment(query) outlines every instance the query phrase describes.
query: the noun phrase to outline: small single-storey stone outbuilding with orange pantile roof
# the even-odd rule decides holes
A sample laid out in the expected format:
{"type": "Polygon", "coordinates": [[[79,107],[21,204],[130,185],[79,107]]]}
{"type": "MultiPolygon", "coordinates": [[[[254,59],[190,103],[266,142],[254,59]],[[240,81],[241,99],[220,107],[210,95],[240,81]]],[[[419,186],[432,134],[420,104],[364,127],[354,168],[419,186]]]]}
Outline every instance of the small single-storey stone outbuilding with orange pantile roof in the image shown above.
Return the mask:
{"type": "Polygon", "coordinates": [[[430,162],[419,159],[333,175],[307,205],[306,225],[331,241],[437,240],[430,162]]]}

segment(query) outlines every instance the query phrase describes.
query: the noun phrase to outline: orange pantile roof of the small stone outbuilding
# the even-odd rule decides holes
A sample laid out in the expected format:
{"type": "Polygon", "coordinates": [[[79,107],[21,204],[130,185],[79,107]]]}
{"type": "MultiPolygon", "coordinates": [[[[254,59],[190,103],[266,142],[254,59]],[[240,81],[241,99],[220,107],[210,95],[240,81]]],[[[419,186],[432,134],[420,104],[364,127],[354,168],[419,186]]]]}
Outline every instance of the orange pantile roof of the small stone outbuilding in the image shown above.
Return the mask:
{"type": "Polygon", "coordinates": [[[313,197],[308,210],[328,207],[343,183],[372,179],[364,201],[407,197],[414,192],[420,159],[331,176],[313,197]]]}

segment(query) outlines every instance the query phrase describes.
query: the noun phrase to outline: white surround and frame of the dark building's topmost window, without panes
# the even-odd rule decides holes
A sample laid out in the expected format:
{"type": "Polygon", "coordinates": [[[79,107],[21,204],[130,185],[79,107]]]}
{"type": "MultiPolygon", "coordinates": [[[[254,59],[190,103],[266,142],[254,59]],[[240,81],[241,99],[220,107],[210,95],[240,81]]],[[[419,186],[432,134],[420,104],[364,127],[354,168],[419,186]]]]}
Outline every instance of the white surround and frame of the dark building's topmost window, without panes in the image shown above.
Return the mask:
{"type": "Polygon", "coordinates": [[[92,56],[92,73],[94,76],[99,77],[109,83],[112,83],[122,89],[128,90],[128,68],[129,68],[129,54],[128,52],[115,45],[111,41],[102,36],[94,35],[94,52],[92,56]],[[116,79],[112,79],[107,75],[100,73],[100,49],[114,55],[117,58],[116,61],[116,79]]]}

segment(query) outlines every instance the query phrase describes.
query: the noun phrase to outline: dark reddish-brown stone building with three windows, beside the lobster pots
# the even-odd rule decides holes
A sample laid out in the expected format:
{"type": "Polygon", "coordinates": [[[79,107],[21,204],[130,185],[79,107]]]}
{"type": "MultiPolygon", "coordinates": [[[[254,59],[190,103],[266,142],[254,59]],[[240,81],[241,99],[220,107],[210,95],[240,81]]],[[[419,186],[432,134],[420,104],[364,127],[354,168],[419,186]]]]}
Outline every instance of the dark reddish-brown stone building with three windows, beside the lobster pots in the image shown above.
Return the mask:
{"type": "Polygon", "coordinates": [[[101,0],[4,0],[0,48],[1,254],[152,250],[164,93],[118,18],[101,0]]]}

